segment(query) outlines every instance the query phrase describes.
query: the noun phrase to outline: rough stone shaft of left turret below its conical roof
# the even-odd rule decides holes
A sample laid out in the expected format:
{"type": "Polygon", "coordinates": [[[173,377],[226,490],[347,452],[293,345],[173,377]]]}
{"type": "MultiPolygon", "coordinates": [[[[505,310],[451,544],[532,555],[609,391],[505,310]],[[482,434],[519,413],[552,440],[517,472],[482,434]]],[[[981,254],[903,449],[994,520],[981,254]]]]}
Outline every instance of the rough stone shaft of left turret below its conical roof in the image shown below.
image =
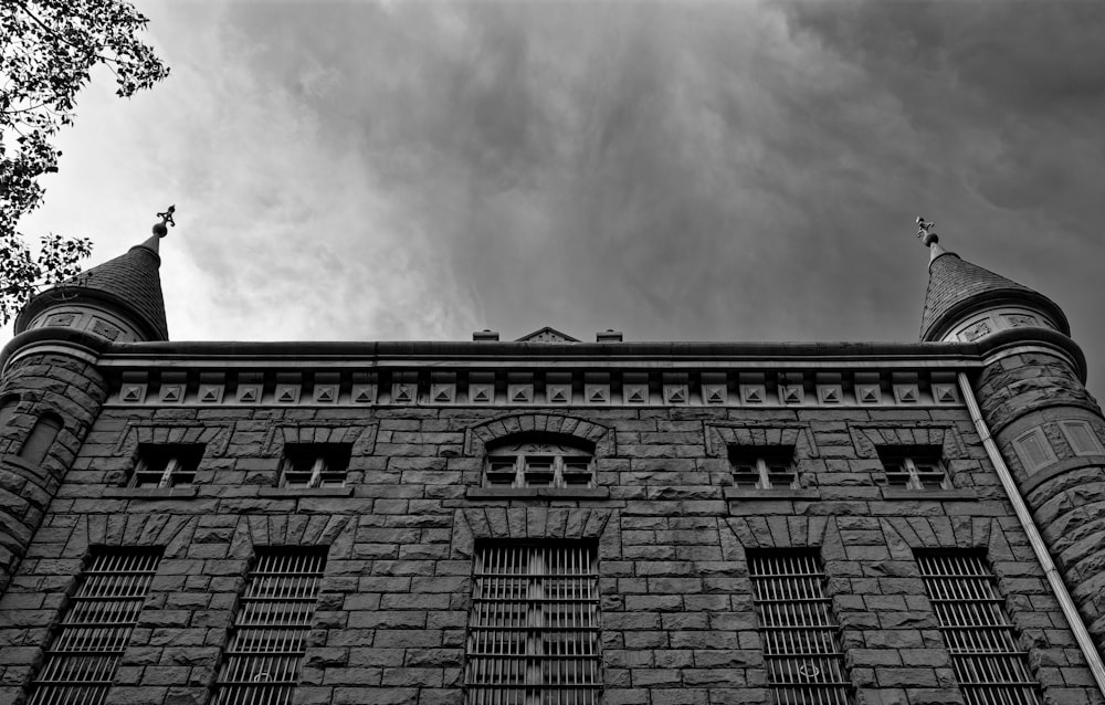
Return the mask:
{"type": "Polygon", "coordinates": [[[28,356],[6,373],[0,399],[19,401],[0,428],[0,593],[40,530],[106,396],[106,385],[92,366],[64,355],[28,356]],[[41,462],[29,462],[21,451],[45,413],[57,414],[63,427],[41,462]]]}

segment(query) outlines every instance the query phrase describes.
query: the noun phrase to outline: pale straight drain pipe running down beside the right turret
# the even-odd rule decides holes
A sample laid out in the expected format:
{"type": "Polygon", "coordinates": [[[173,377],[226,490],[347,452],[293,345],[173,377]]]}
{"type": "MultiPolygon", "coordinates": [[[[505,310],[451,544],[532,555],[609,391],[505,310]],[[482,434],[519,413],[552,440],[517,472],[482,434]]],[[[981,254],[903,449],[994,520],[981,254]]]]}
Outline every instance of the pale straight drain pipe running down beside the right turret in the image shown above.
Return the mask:
{"type": "Polygon", "coordinates": [[[967,375],[958,372],[958,380],[959,390],[967,402],[967,410],[970,412],[971,421],[975,422],[978,436],[982,439],[982,445],[986,446],[986,454],[990,456],[990,463],[993,464],[993,469],[998,472],[998,477],[1001,478],[1001,486],[1006,488],[1006,494],[1009,495],[1009,502],[1012,503],[1017,518],[1020,519],[1021,527],[1029,537],[1029,544],[1032,545],[1036,560],[1043,567],[1044,575],[1048,576],[1048,582],[1051,583],[1051,589],[1063,610],[1063,615],[1071,625],[1074,638],[1078,641],[1078,646],[1082,649],[1082,654],[1086,657],[1086,663],[1090,664],[1090,670],[1094,674],[1094,681],[1097,682],[1097,690],[1105,695],[1105,664],[1102,663],[1102,656],[1097,652],[1097,646],[1094,645],[1094,640],[1090,636],[1090,631],[1086,629],[1085,622],[1082,621],[1082,615],[1078,614],[1078,608],[1075,607],[1071,593],[1067,592],[1066,586],[1063,583],[1063,578],[1059,575],[1055,564],[1051,559],[1048,546],[1043,543],[1043,537],[1040,535],[1040,529],[1036,528],[1035,522],[1029,513],[1028,505],[1024,504],[1024,498],[1021,497],[1020,491],[1013,484],[1013,476],[1009,472],[1009,466],[1006,465],[1004,459],[1001,457],[1001,453],[998,452],[993,436],[990,435],[989,427],[982,420],[982,412],[978,408],[978,401],[975,399],[975,392],[967,380],[967,375]]]}

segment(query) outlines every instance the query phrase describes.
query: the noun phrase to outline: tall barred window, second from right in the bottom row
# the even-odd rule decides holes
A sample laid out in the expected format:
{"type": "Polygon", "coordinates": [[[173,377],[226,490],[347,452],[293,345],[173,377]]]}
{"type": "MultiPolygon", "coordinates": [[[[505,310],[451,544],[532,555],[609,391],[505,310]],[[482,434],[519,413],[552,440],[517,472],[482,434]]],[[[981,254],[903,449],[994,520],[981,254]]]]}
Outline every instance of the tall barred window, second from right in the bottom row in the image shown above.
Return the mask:
{"type": "Polygon", "coordinates": [[[778,705],[848,705],[840,627],[812,551],[748,556],[753,600],[764,635],[768,685],[778,705]]]}

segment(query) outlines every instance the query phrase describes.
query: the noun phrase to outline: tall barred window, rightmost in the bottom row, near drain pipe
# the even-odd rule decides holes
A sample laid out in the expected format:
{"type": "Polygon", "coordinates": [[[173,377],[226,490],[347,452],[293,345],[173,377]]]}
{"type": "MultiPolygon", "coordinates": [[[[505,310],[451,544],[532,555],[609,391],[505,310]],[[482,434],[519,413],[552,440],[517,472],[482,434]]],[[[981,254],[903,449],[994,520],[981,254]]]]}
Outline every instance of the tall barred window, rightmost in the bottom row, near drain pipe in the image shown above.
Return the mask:
{"type": "Polygon", "coordinates": [[[1038,705],[1039,684],[983,556],[918,554],[925,592],[967,705],[1038,705]]]}

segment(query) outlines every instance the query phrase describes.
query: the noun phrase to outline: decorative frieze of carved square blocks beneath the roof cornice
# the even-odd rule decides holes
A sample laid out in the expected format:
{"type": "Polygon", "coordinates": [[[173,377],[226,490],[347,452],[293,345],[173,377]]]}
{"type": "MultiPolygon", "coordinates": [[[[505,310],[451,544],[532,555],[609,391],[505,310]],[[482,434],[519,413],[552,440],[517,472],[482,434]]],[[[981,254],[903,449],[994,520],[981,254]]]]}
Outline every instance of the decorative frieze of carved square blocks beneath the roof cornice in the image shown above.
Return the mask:
{"type": "Polygon", "coordinates": [[[322,370],[122,372],[109,403],[191,406],[957,407],[950,370],[322,370]]]}

